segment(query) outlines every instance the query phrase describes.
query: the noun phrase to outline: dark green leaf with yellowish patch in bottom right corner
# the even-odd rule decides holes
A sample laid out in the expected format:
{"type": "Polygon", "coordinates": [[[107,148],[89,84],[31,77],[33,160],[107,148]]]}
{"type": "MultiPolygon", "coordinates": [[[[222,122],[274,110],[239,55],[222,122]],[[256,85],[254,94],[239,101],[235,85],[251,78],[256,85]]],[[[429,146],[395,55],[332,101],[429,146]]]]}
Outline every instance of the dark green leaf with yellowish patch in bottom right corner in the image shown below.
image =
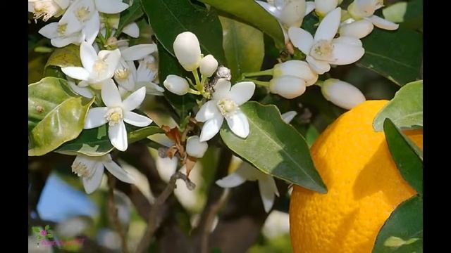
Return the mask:
{"type": "Polygon", "coordinates": [[[388,252],[423,252],[423,200],[419,195],[402,202],[379,231],[373,253],[388,252]]]}

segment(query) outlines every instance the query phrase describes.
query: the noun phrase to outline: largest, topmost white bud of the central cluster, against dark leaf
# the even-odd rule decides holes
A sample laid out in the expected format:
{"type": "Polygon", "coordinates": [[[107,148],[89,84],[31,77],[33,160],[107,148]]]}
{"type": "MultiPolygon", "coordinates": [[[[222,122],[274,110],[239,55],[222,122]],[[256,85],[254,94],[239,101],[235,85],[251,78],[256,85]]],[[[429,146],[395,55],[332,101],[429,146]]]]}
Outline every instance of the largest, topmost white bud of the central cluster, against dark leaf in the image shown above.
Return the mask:
{"type": "Polygon", "coordinates": [[[199,67],[202,58],[200,54],[199,40],[192,32],[182,32],[175,37],[173,44],[175,57],[187,71],[193,71],[199,67]]]}

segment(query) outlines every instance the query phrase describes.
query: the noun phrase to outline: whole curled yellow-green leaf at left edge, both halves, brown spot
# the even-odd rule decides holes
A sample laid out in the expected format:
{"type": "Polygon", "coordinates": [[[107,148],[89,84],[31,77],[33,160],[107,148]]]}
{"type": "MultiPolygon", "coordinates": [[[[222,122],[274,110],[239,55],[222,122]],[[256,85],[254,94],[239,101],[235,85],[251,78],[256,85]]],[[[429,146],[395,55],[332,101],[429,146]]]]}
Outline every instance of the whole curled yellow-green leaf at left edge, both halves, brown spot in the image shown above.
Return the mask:
{"type": "Polygon", "coordinates": [[[44,155],[77,138],[94,99],[75,96],[67,81],[46,77],[28,86],[28,119],[37,123],[30,132],[28,155],[44,155]]]}

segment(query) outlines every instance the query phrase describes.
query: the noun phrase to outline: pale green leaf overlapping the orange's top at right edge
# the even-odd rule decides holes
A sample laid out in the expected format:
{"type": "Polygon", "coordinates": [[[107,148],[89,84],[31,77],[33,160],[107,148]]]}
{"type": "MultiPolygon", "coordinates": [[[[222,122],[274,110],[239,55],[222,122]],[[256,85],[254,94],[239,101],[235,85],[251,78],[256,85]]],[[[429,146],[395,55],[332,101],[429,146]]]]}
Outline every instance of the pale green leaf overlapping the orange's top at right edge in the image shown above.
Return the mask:
{"type": "Polygon", "coordinates": [[[385,118],[390,118],[400,129],[423,126],[423,80],[403,86],[374,118],[373,129],[383,130],[385,118]]]}

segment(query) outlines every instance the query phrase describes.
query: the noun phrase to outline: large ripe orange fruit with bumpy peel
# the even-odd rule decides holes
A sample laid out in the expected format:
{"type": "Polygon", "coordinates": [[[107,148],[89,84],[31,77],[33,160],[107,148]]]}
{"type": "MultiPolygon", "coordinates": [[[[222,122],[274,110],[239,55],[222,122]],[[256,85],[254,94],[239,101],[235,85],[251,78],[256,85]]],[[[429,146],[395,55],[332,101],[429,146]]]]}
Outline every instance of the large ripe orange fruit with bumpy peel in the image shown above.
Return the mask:
{"type": "MultiPolygon", "coordinates": [[[[387,100],[369,100],[345,112],[319,136],[311,156],[328,193],[298,186],[290,200],[295,253],[371,252],[393,210],[416,194],[404,181],[373,119],[387,100]]],[[[423,131],[405,132],[423,148],[423,131]]]]}

